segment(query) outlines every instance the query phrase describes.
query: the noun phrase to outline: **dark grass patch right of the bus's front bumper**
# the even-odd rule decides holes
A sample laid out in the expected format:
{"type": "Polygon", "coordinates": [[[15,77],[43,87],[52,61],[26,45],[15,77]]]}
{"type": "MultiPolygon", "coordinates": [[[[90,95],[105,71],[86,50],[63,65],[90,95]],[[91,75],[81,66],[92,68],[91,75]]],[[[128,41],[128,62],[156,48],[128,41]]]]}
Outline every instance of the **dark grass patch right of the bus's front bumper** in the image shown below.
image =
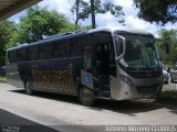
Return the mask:
{"type": "Polygon", "coordinates": [[[163,103],[177,105],[177,91],[165,90],[157,96],[156,100],[163,103]]]}

